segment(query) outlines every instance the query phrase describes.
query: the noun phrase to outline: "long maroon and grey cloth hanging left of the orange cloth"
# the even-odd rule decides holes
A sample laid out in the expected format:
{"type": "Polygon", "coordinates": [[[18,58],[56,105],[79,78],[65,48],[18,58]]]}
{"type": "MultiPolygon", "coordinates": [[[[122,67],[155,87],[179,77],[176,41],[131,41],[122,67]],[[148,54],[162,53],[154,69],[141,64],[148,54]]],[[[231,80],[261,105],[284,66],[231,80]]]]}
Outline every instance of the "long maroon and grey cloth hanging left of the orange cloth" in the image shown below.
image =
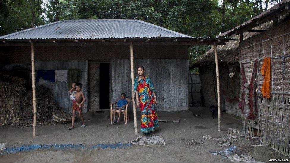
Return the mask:
{"type": "Polygon", "coordinates": [[[254,63],[254,69],[250,83],[248,83],[245,72],[244,65],[241,64],[241,93],[239,98],[239,108],[242,109],[242,113],[248,119],[256,118],[256,69],[257,69],[257,60],[254,63]]]}

